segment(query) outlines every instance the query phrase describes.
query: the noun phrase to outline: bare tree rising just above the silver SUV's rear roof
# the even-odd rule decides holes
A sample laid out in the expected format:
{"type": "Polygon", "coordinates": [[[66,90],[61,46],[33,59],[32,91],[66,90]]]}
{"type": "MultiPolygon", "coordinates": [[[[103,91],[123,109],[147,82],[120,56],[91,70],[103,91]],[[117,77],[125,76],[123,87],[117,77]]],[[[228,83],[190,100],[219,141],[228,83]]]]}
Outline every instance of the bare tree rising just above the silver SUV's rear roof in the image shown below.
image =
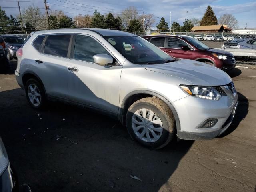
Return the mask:
{"type": "Polygon", "coordinates": [[[47,28],[47,20],[45,14],[40,11],[39,7],[28,6],[22,12],[22,20],[24,23],[29,23],[36,30],[47,28]]]}

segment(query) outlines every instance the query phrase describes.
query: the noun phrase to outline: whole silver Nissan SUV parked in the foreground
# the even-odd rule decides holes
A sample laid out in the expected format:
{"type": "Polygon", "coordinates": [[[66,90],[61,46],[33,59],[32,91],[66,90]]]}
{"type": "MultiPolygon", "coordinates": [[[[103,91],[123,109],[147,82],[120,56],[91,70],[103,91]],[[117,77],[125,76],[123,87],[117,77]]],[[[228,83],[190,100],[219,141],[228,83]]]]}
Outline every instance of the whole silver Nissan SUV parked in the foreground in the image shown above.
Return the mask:
{"type": "Polygon", "coordinates": [[[222,70],[177,60],[133,34],[106,29],[35,32],[15,72],[33,108],[58,99],[126,125],[143,146],[212,139],[230,126],[237,94],[222,70]]]}

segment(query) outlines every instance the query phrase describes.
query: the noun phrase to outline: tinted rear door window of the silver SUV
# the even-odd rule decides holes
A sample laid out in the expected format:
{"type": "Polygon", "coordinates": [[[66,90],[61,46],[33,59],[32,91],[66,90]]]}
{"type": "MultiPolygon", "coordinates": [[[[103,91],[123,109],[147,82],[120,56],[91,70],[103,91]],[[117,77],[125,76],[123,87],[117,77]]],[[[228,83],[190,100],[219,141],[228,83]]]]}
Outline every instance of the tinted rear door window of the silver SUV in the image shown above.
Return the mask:
{"type": "Polygon", "coordinates": [[[54,56],[67,57],[71,35],[49,35],[44,45],[44,53],[54,56]]]}

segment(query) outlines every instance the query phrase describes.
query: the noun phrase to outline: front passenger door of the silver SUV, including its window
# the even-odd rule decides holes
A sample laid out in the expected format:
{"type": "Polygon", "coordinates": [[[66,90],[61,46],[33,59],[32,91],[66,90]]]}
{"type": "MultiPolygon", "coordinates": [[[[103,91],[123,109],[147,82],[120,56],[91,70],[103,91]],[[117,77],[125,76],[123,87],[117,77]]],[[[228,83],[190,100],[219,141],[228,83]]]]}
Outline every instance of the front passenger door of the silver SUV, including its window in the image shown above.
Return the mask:
{"type": "Polygon", "coordinates": [[[117,114],[122,66],[104,67],[95,64],[94,55],[110,53],[91,36],[74,36],[71,51],[68,64],[70,102],[117,114]]]}

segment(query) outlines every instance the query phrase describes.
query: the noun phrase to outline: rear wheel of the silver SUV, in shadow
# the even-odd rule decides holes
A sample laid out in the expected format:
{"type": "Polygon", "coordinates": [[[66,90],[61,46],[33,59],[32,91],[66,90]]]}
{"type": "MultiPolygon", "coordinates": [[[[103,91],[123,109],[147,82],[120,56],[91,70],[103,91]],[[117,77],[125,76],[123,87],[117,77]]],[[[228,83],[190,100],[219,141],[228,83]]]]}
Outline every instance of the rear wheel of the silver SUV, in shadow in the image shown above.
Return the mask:
{"type": "Polygon", "coordinates": [[[25,92],[28,103],[30,106],[32,106],[32,108],[44,108],[46,105],[46,94],[44,92],[43,85],[38,80],[34,78],[29,79],[25,85],[25,92]]]}

